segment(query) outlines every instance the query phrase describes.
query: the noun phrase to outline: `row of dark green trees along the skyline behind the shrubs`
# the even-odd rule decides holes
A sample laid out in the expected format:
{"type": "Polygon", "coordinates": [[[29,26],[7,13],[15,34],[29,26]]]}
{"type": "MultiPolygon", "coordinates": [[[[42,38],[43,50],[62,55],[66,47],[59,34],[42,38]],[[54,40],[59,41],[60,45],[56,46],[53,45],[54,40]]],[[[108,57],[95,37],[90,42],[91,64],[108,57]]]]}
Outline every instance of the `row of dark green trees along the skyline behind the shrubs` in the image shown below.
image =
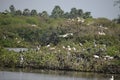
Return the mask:
{"type": "MultiPolygon", "coordinates": [[[[47,11],[37,12],[37,10],[32,9],[29,10],[28,8],[22,10],[17,10],[14,5],[9,7],[10,13],[12,15],[18,16],[41,16],[44,18],[52,17],[52,18],[90,18],[91,12],[84,12],[82,9],[71,8],[70,12],[65,12],[59,5],[56,5],[51,14],[49,15],[47,11]]],[[[9,11],[6,10],[5,13],[9,14],[9,11]]]]}

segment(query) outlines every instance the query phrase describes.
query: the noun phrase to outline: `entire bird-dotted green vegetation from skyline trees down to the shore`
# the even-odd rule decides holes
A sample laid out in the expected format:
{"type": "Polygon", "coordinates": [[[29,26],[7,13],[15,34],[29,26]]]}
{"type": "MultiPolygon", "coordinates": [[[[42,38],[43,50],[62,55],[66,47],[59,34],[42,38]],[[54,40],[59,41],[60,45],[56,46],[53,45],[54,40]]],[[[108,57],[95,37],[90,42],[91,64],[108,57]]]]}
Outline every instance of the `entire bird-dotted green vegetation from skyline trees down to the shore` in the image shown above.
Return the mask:
{"type": "Polygon", "coordinates": [[[59,6],[51,15],[22,12],[11,5],[0,13],[0,66],[120,73],[119,19],[93,18],[76,8],[64,12],[59,6]]]}

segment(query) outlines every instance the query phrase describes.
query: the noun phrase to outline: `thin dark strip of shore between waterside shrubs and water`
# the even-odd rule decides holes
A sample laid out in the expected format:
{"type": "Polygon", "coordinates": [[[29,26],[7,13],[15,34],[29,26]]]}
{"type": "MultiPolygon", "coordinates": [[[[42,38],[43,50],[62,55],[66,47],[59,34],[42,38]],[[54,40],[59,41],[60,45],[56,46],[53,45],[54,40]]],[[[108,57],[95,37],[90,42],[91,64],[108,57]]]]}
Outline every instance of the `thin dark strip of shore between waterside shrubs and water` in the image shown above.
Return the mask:
{"type": "MultiPolygon", "coordinates": [[[[118,69],[118,68],[116,68],[118,69]]],[[[23,72],[36,72],[36,71],[40,71],[40,72],[46,72],[46,71],[63,71],[63,72],[88,72],[88,73],[103,73],[103,74],[120,74],[119,72],[114,72],[112,69],[111,70],[106,70],[106,71],[87,71],[87,70],[75,70],[75,69],[53,69],[53,68],[33,68],[33,67],[0,67],[0,71],[23,71],[23,72]]]]}

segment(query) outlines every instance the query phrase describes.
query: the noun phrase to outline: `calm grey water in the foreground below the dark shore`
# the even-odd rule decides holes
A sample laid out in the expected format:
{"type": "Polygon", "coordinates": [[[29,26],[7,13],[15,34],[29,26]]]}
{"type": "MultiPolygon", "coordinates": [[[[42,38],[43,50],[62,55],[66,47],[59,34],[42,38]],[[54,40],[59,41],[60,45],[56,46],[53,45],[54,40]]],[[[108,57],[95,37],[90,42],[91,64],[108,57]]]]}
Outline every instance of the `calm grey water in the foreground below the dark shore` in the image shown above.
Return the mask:
{"type": "Polygon", "coordinates": [[[101,74],[87,72],[63,72],[63,71],[43,71],[43,72],[11,72],[0,71],[0,80],[120,80],[120,74],[101,74]]]}

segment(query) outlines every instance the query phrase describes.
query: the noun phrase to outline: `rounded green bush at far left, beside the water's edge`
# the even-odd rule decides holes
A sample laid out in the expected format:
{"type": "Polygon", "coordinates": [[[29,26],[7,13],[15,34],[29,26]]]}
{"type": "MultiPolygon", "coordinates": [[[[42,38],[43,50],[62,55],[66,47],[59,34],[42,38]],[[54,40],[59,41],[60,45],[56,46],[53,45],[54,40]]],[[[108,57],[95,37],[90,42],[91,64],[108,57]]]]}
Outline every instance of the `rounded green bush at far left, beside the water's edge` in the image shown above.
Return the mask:
{"type": "Polygon", "coordinates": [[[19,64],[19,56],[17,53],[7,51],[3,48],[0,49],[0,66],[16,67],[19,64]]]}

